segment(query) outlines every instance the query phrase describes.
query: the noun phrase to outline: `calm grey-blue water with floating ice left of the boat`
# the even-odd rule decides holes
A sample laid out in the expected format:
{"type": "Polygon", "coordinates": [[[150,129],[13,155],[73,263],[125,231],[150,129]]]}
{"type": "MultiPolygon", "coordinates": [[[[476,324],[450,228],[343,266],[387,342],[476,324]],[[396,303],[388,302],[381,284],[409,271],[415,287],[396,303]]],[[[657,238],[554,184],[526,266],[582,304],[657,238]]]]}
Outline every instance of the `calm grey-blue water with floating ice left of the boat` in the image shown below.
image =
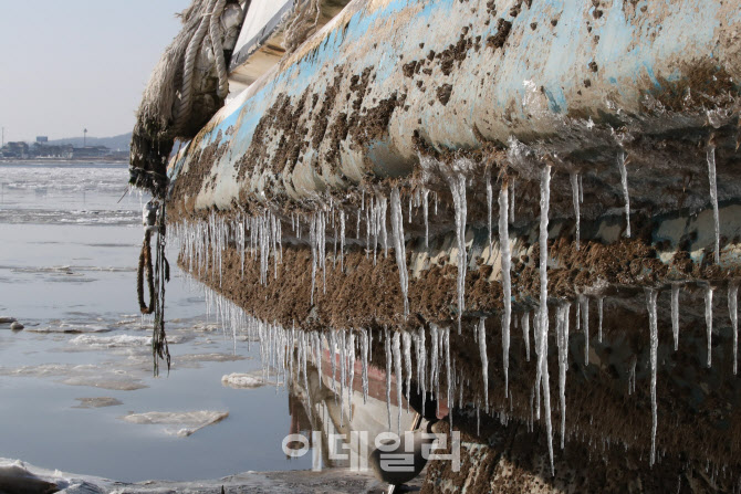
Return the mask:
{"type": "Polygon", "coordinates": [[[150,323],[135,292],[145,199],[117,202],[127,176],[122,165],[0,164],[0,316],[25,325],[0,325],[0,456],[124,482],[311,467],[311,455],[289,461],[282,451],[284,391],[222,385],[261,369],[258,346],[207,320],[174,251],[173,370],[152,376],[150,323]],[[114,400],[80,408],[93,398],[114,400]],[[190,437],[171,434],[177,424],[122,420],[192,411],[229,416],[190,437]]]}

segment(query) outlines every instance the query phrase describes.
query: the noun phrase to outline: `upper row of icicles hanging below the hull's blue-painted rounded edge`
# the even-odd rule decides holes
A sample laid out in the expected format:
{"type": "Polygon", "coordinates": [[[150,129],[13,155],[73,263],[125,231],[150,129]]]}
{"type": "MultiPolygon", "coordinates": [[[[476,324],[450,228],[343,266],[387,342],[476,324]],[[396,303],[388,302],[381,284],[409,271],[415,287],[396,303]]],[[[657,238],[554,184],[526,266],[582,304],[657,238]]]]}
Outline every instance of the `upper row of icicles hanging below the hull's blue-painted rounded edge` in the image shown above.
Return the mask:
{"type": "MultiPolygon", "coordinates": [[[[714,245],[714,260],[719,262],[720,255],[720,234],[719,234],[719,214],[718,214],[718,192],[716,185],[716,159],[714,159],[714,147],[710,146],[708,148],[708,177],[710,183],[710,198],[713,208],[713,220],[714,220],[714,233],[716,233],[716,245],[714,245]]],[[[466,225],[467,225],[467,200],[466,200],[466,183],[467,183],[467,170],[471,168],[470,161],[466,159],[459,159],[446,168],[446,165],[437,162],[428,157],[420,157],[420,162],[422,168],[429,170],[431,168],[437,168],[443,171],[443,177],[447,179],[447,182],[450,187],[450,192],[453,199],[455,208],[455,232],[457,242],[459,245],[458,249],[458,278],[457,278],[457,291],[458,291],[458,333],[461,332],[461,317],[465,311],[465,282],[466,282],[466,271],[468,266],[468,254],[466,251],[466,225]],[[451,172],[450,169],[453,171],[451,172]],[[447,170],[447,171],[446,171],[447,170]]],[[[629,193],[628,193],[628,181],[627,181],[627,170],[626,170],[626,155],[623,150],[618,151],[617,155],[617,166],[620,171],[620,182],[625,199],[625,217],[626,217],[626,237],[630,237],[630,206],[629,206],[629,193]]],[[[576,220],[576,249],[580,249],[580,203],[583,201],[583,187],[581,177],[577,174],[571,174],[570,176],[572,190],[573,190],[573,206],[574,214],[576,220]]],[[[489,172],[487,174],[487,202],[489,209],[489,243],[492,244],[492,203],[493,203],[493,190],[491,185],[491,177],[489,172]]],[[[499,243],[500,252],[502,260],[502,291],[503,291],[503,305],[504,311],[502,315],[502,344],[503,344],[503,361],[504,361],[504,381],[505,381],[505,396],[509,395],[509,344],[510,344],[510,326],[512,319],[512,286],[511,286],[511,250],[510,250],[510,235],[509,235],[509,224],[513,221],[514,216],[514,180],[503,180],[501,189],[499,191],[499,243]],[[510,193],[512,192],[512,197],[510,193]]],[[[409,196],[408,202],[408,221],[411,222],[414,210],[416,209],[419,212],[419,209],[422,210],[424,222],[425,222],[425,244],[426,246],[429,243],[429,190],[426,188],[417,188],[409,196]]],[[[543,396],[543,408],[545,410],[545,429],[547,434],[547,444],[549,444],[549,456],[551,460],[551,466],[553,469],[553,444],[552,444],[552,424],[551,424],[551,406],[550,406],[550,385],[549,385],[549,369],[547,369],[547,333],[549,333],[549,313],[547,313],[547,231],[549,231],[549,207],[550,207],[550,192],[551,192],[551,166],[545,165],[541,171],[541,183],[540,183],[540,234],[539,234],[539,244],[540,244],[540,307],[545,308],[536,311],[534,317],[534,340],[535,340],[535,351],[538,354],[538,364],[536,364],[536,381],[535,389],[536,396],[543,396]]],[[[438,198],[437,193],[434,193],[435,199],[435,214],[437,214],[438,209],[438,198]]],[[[361,201],[359,208],[356,211],[356,239],[361,241],[361,223],[365,220],[365,252],[366,256],[369,257],[373,255],[374,264],[376,262],[377,251],[379,245],[383,245],[384,255],[388,255],[388,240],[389,234],[387,231],[388,222],[388,210],[390,209],[390,225],[392,225],[392,235],[390,240],[393,242],[393,248],[395,251],[396,263],[399,270],[399,283],[401,287],[401,294],[404,297],[404,316],[406,317],[409,313],[409,303],[408,303],[408,271],[406,266],[406,250],[405,250],[405,235],[404,235],[404,208],[401,206],[401,197],[398,187],[394,187],[390,191],[388,198],[382,193],[375,196],[368,196],[366,199],[365,192],[363,192],[363,198],[361,201]]],[[[317,271],[322,270],[323,278],[323,291],[326,291],[326,245],[328,240],[326,238],[327,229],[332,228],[334,230],[334,255],[333,264],[336,269],[337,261],[340,269],[344,270],[344,252],[346,245],[346,223],[348,218],[346,217],[345,210],[343,208],[336,208],[333,199],[330,198],[328,203],[323,208],[309,213],[309,214],[292,214],[291,217],[291,227],[292,231],[298,239],[302,238],[302,223],[309,225],[309,242],[312,249],[312,292],[311,299],[313,304],[315,281],[317,271]],[[340,243],[340,252],[337,253],[337,243],[340,243]]],[[[208,265],[209,261],[213,266],[218,266],[219,272],[219,285],[221,285],[222,280],[222,251],[227,248],[230,242],[234,242],[237,245],[240,245],[240,256],[241,256],[241,271],[242,275],[244,273],[244,262],[246,257],[252,257],[253,260],[259,260],[260,262],[260,282],[267,284],[269,280],[269,272],[271,267],[270,256],[273,257],[273,276],[278,276],[278,265],[282,261],[282,225],[281,220],[270,210],[265,210],[262,214],[255,217],[243,217],[238,216],[232,221],[227,221],[222,217],[217,216],[211,212],[207,221],[199,222],[184,222],[175,224],[170,229],[170,234],[175,237],[175,240],[179,242],[181,249],[182,259],[188,266],[190,272],[196,272],[200,275],[201,270],[205,265],[208,265]],[[248,237],[249,233],[249,237],[248,237]]],[[[676,323],[676,304],[677,304],[677,292],[678,285],[672,286],[672,326],[675,332],[675,341],[676,335],[678,332],[678,323],[676,323]],[[676,288],[675,288],[676,287],[676,288]]],[[[735,294],[738,286],[731,284],[729,287],[729,305],[735,307],[735,294]],[[733,295],[732,297],[730,295],[733,295]]],[[[650,358],[651,358],[651,409],[653,409],[653,431],[651,431],[651,464],[655,461],[655,438],[656,438],[656,428],[657,428],[657,417],[656,417],[656,348],[658,344],[658,338],[656,335],[656,291],[653,288],[647,288],[647,302],[650,316],[650,358]]],[[[581,298],[581,297],[580,297],[581,298]]],[[[712,288],[708,286],[706,291],[706,306],[710,307],[712,301],[712,288]]],[[[556,314],[556,340],[561,340],[560,332],[565,332],[564,344],[567,341],[567,305],[561,303],[559,306],[559,313],[556,314]],[[560,314],[561,311],[565,311],[566,316],[565,320],[562,320],[560,314]]],[[[582,303],[578,304],[582,306],[582,303]]],[[[602,307],[602,301],[599,303],[602,307]]],[[[586,311],[585,311],[586,312],[586,311]]],[[[602,311],[601,311],[602,312],[602,311]]],[[[731,309],[731,318],[733,320],[733,334],[734,334],[734,365],[733,369],[737,370],[735,355],[737,355],[737,317],[735,311],[731,309]]],[[[711,330],[712,330],[712,313],[710,308],[706,309],[706,319],[708,322],[708,348],[710,349],[711,340],[711,330]]],[[[480,326],[480,333],[483,333],[483,325],[480,326]]],[[[586,327],[585,327],[586,329],[586,327]]],[[[481,345],[486,345],[486,338],[479,337],[481,345]]],[[[587,338],[588,340],[588,338],[587,338]]],[[[564,350],[565,351],[565,350],[564,350]]],[[[481,350],[482,359],[486,359],[486,351],[481,350]]],[[[565,359],[565,354],[564,354],[565,359]]],[[[560,351],[561,360],[561,351],[560,351]]],[[[487,371],[486,371],[486,360],[484,364],[484,383],[487,381],[487,371]]],[[[708,351],[708,364],[710,365],[710,351],[708,351]]],[[[565,362],[563,364],[565,366],[565,362]]],[[[560,388],[562,388],[561,379],[565,380],[565,367],[560,368],[560,388]]],[[[484,388],[486,389],[486,388],[484,388]]],[[[561,398],[562,407],[565,407],[564,398],[561,398]]],[[[538,408],[540,414],[540,407],[538,408]]],[[[562,416],[563,417],[563,416],[562,416]]],[[[562,429],[563,429],[562,423],[562,429]]],[[[563,430],[562,430],[562,441],[563,441],[563,430]]]]}

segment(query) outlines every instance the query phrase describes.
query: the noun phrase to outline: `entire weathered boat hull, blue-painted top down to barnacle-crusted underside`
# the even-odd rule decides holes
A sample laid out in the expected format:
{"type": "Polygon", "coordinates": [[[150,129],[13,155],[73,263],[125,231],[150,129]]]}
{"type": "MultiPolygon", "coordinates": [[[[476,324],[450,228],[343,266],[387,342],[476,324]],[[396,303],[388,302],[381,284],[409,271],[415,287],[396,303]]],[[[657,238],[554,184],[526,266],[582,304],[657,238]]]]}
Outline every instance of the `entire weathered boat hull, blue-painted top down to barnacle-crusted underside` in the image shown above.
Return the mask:
{"type": "Polygon", "coordinates": [[[661,475],[707,460],[724,490],[741,473],[739,11],[353,2],[173,162],[180,263],[286,328],[422,328],[428,353],[448,332],[441,392],[536,417],[547,471],[565,404],[567,440],[661,475]]]}

